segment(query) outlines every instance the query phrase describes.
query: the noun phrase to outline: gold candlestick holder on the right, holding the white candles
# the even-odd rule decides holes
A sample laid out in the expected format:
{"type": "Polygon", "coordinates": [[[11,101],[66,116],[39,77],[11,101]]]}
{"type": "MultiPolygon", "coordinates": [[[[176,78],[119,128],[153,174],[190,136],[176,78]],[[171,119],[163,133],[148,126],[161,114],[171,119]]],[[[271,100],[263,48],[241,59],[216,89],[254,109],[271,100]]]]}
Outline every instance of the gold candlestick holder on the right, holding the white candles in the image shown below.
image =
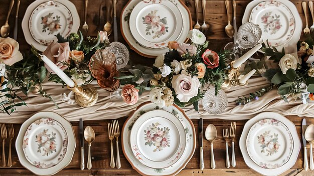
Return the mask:
{"type": "Polygon", "coordinates": [[[246,86],[248,84],[248,81],[246,81],[244,84],[241,84],[239,80],[243,77],[240,73],[240,67],[234,68],[232,65],[235,61],[232,61],[230,63],[230,70],[228,70],[227,73],[227,79],[225,79],[225,82],[221,85],[221,88],[223,90],[229,90],[232,86],[246,86]]]}

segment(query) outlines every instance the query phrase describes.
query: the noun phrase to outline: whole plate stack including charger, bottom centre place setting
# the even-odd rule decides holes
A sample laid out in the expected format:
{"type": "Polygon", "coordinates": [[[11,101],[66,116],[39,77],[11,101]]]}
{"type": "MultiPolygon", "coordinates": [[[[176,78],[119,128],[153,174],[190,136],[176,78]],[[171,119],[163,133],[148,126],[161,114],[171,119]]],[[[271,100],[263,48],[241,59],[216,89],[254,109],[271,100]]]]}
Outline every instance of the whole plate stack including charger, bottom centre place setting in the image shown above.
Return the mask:
{"type": "Polygon", "coordinates": [[[175,175],[192,158],[196,147],[192,121],[177,106],[140,105],[125,121],[122,150],[142,175],[175,175]]]}

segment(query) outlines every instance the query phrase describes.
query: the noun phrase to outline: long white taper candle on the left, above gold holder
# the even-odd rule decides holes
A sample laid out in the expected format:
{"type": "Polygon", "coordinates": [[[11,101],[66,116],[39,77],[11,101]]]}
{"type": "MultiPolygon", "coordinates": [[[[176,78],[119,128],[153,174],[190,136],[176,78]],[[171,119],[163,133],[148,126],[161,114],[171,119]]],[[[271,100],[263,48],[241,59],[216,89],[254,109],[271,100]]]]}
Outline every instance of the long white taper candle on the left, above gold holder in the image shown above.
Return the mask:
{"type": "Polygon", "coordinates": [[[47,56],[41,55],[42,61],[44,61],[48,67],[51,68],[69,87],[73,88],[75,86],[74,81],[68,77],[59,67],[56,66],[47,56]]]}

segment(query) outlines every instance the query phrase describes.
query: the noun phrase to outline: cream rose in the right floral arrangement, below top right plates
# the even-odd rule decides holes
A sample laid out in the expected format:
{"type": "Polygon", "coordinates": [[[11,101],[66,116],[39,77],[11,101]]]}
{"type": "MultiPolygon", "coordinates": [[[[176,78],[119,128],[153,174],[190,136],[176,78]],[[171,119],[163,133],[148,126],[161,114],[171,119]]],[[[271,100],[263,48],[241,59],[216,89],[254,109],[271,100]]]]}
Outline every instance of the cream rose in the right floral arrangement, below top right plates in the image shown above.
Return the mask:
{"type": "Polygon", "coordinates": [[[299,63],[296,53],[286,54],[279,61],[279,67],[283,74],[285,74],[290,68],[296,70],[299,63]]]}

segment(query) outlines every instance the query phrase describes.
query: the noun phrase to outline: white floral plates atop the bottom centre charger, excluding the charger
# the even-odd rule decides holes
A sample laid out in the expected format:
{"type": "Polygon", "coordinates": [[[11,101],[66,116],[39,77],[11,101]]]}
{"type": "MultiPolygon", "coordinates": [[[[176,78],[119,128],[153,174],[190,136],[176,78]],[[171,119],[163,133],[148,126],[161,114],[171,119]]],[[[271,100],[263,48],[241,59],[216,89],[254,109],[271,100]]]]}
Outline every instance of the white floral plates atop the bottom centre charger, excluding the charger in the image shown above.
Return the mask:
{"type": "Polygon", "coordinates": [[[134,156],[151,168],[169,167],[181,158],[186,133],[181,121],[164,110],[141,115],[133,124],[130,142],[134,156]]]}

